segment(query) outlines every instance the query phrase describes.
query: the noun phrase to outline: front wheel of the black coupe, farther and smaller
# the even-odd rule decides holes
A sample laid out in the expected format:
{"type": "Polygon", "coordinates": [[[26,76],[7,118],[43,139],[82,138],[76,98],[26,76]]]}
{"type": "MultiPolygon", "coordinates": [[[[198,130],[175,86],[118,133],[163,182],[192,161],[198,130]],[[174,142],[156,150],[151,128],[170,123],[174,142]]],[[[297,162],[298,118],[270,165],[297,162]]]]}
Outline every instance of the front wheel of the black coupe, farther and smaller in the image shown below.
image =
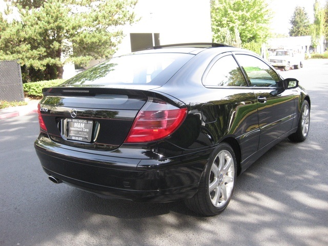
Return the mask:
{"type": "Polygon", "coordinates": [[[308,137],[310,127],[310,106],[308,101],[304,100],[300,116],[298,119],[297,131],[291,134],[288,138],[295,142],[302,142],[308,137]]]}

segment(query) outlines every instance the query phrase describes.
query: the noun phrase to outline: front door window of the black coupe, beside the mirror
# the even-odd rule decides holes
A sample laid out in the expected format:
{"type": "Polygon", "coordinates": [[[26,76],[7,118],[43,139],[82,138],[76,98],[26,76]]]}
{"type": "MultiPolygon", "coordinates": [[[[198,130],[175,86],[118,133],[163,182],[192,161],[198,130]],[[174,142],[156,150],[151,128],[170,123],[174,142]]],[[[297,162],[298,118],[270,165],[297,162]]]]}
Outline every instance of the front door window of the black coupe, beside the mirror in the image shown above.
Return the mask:
{"type": "Polygon", "coordinates": [[[240,66],[247,74],[252,87],[276,87],[280,80],[277,73],[262,60],[251,55],[236,55],[240,66]]]}

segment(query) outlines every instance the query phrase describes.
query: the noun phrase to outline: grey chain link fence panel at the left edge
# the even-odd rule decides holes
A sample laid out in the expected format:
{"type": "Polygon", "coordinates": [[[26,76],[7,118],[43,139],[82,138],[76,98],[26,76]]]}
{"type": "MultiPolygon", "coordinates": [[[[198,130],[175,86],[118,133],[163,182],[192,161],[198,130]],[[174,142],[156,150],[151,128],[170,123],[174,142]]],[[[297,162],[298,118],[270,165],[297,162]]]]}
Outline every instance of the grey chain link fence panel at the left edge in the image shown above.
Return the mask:
{"type": "Polygon", "coordinates": [[[22,73],[16,60],[0,61],[0,100],[24,101],[22,73]]]}

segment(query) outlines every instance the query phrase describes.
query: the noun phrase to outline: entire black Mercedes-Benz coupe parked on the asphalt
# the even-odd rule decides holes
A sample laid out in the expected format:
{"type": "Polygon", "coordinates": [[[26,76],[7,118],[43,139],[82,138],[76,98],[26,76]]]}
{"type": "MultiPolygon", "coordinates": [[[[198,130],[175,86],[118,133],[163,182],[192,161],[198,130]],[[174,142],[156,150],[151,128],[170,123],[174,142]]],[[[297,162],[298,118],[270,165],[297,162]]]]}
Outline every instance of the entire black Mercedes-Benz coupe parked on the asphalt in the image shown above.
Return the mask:
{"type": "Polygon", "coordinates": [[[104,197],[224,210],[236,176],[280,140],[303,141],[310,97],[258,55],[218,44],[158,46],[43,90],[44,171],[104,197]]]}

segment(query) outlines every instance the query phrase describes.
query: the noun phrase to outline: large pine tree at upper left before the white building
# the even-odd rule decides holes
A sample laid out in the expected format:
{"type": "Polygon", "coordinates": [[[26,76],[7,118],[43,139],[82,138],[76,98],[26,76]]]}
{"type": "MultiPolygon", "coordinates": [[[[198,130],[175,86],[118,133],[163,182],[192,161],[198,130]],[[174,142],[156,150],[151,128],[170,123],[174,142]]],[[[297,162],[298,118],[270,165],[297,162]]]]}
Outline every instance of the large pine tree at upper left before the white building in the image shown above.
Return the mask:
{"type": "MultiPolygon", "coordinates": [[[[63,66],[87,65],[116,51],[121,26],[135,21],[137,0],[8,0],[17,7],[0,34],[0,58],[19,59],[20,65],[51,70],[63,76],[63,66]]],[[[0,26],[2,28],[2,26],[0,26]]]]}

